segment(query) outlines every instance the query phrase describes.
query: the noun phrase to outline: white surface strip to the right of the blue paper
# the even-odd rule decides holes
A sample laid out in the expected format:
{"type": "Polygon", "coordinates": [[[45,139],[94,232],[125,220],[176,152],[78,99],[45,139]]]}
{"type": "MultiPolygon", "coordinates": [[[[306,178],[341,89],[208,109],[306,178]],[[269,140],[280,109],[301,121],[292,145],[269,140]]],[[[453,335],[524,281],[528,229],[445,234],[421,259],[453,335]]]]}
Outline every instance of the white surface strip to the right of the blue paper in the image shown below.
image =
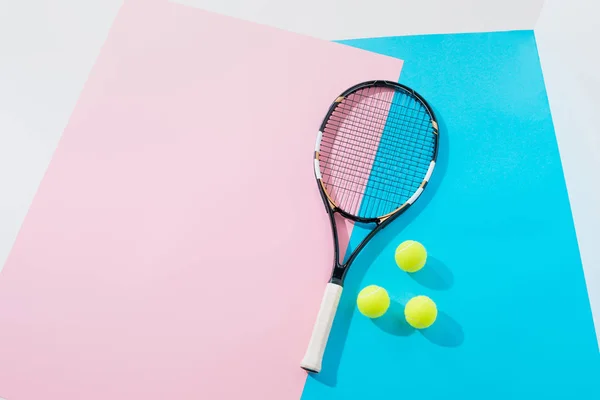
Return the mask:
{"type": "Polygon", "coordinates": [[[600,329],[598,15],[598,1],[548,0],[535,29],[596,332],[600,329]]]}

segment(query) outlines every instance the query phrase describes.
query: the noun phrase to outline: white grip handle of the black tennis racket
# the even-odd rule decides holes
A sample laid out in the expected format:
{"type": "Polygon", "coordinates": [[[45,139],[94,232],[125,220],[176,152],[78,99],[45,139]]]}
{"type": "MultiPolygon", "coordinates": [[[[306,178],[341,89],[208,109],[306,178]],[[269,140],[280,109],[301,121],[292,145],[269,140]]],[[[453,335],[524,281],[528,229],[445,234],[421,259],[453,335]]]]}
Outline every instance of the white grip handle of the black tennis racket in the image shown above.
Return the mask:
{"type": "Polygon", "coordinates": [[[335,318],[335,313],[341,297],[342,287],[335,283],[328,283],[325,288],[325,294],[323,295],[319,314],[317,315],[317,322],[313,327],[312,336],[308,343],[308,349],[300,364],[300,366],[307,371],[321,371],[321,362],[323,360],[323,354],[325,353],[325,347],[327,346],[327,339],[329,338],[331,325],[333,324],[333,319],[335,318]]]}

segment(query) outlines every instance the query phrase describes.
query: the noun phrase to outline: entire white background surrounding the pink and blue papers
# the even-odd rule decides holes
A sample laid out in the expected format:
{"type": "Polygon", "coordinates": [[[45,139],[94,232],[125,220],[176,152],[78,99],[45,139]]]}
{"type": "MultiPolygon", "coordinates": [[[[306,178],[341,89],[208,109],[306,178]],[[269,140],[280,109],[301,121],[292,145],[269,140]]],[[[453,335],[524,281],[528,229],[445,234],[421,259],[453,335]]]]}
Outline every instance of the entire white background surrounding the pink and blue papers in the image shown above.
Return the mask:
{"type": "MultiPolygon", "coordinates": [[[[123,0],[0,0],[0,269],[123,0]]],[[[178,0],[322,39],[536,27],[600,323],[600,38],[595,0],[178,0]],[[545,4],[544,4],[545,3],[545,4]],[[536,25],[537,24],[537,25],[536,25]]]]}

